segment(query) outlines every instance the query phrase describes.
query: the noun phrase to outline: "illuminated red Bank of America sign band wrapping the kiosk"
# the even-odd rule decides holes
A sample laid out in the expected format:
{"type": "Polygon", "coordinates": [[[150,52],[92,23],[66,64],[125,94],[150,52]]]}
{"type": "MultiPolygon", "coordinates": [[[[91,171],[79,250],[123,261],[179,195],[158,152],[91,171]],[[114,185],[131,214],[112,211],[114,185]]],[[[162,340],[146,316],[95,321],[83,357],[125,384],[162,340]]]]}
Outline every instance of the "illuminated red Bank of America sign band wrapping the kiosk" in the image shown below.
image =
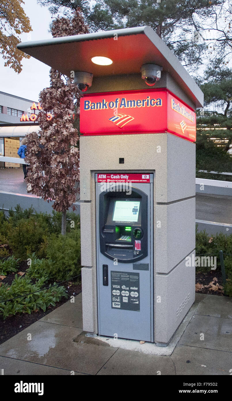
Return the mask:
{"type": "Polygon", "coordinates": [[[196,113],[167,89],[85,94],[80,132],[125,135],[170,132],[196,140],[196,113]]]}

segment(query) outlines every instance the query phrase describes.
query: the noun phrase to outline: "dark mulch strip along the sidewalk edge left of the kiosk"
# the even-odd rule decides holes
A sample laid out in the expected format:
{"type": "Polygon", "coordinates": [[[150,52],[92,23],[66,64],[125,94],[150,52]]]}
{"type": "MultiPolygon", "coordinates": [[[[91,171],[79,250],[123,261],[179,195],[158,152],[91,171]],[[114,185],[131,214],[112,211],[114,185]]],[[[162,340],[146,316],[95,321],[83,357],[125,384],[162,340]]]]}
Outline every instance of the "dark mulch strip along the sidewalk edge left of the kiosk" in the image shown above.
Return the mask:
{"type": "MultiPolygon", "coordinates": [[[[27,268],[28,268],[27,262],[23,261],[20,263],[18,271],[24,272],[26,271],[27,268]]],[[[4,280],[2,280],[2,283],[8,283],[10,286],[12,284],[12,281],[14,280],[15,274],[16,273],[8,274],[7,277],[4,280]]],[[[35,280],[32,280],[32,282],[35,282],[35,280]]],[[[46,287],[48,287],[49,284],[53,284],[53,282],[48,282],[46,284],[46,287]]],[[[43,318],[48,313],[52,312],[54,309],[63,305],[65,302],[68,301],[68,299],[70,299],[71,295],[76,296],[81,292],[80,282],[76,283],[66,282],[60,285],[66,288],[66,294],[68,295],[68,298],[63,297],[59,302],[56,302],[56,306],[50,305],[45,312],[42,309],[40,309],[38,310],[38,312],[32,312],[31,314],[24,313],[24,314],[17,314],[15,316],[11,315],[8,316],[8,318],[6,318],[5,320],[3,320],[2,316],[0,316],[0,344],[2,344],[2,342],[6,340],[9,340],[9,338],[15,336],[15,334],[20,333],[20,331],[24,330],[32,323],[37,322],[37,320],[43,318]]]]}

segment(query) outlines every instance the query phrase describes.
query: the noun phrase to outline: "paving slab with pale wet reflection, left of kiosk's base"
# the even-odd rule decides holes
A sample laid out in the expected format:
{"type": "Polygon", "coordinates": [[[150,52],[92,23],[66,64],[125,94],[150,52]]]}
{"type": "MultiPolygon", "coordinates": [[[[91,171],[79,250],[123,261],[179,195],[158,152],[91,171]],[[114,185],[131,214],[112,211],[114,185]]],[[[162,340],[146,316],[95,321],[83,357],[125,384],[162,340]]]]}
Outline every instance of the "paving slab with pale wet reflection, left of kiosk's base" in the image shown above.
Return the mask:
{"type": "Polygon", "coordinates": [[[81,332],[76,327],[38,321],[1,344],[0,356],[96,375],[116,349],[74,342],[81,332]]]}

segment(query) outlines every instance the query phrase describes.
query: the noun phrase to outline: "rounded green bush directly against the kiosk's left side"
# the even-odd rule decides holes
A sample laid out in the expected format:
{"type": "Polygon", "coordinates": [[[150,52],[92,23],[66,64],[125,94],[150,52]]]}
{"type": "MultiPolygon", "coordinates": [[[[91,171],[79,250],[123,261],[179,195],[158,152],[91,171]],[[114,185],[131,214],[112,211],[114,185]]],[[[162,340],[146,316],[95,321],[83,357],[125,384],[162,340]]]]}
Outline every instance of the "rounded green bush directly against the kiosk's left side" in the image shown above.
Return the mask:
{"type": "Polygon", "coordinates": [[[46,255],[54,263],[48,267],[49,277],[58,281],[80,273],[80,229],[71,229],[66,235],[52,235],[48,239],[46,255]]]}

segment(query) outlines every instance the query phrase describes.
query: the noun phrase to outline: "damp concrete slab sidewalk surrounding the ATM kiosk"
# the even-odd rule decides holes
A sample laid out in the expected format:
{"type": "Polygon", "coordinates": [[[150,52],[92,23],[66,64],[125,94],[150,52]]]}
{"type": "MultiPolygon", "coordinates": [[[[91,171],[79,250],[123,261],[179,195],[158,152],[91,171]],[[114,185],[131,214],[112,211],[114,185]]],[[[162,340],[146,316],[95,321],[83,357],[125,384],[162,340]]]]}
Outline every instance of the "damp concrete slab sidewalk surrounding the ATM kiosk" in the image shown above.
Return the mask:
{"type": "Polygon", "coordinates": [[[196,294],[193,312],[172,355],[150,355],[85,337],[79,294],[0,345],[0,369],[4,375],[230,375],[232,298],[196,294]]]}

